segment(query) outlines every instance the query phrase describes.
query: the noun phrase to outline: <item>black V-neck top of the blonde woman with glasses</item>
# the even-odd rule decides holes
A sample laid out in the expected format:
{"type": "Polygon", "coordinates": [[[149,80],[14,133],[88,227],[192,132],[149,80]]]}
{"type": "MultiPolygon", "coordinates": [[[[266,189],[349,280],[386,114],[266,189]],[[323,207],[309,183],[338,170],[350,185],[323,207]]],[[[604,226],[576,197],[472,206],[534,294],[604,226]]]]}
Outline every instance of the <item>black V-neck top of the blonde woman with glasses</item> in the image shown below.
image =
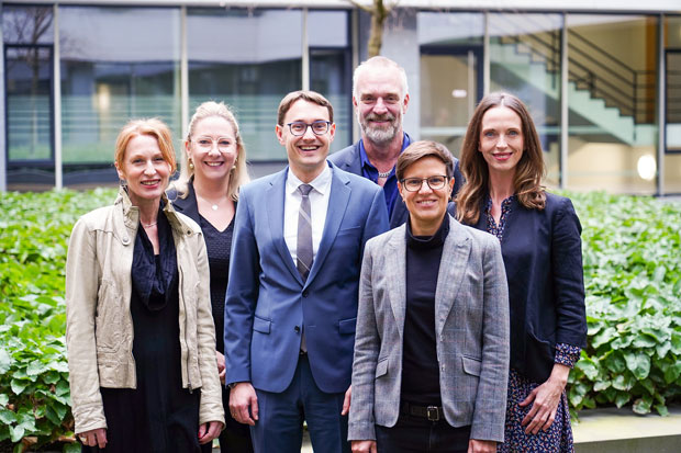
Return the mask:
{"type": "Polygon", "coordinates": [[[215,322],[215,348],[224,353],[224,325],[225,325],[225,295],[230,281],[230,252],[232,249],[232,234],[234,231],[234,218],[230,225],[220,231],[203,216],[199,218],[199,225],[203,231],[208,264],[211,271],[211,306],[213,321],[215,322]]]}

